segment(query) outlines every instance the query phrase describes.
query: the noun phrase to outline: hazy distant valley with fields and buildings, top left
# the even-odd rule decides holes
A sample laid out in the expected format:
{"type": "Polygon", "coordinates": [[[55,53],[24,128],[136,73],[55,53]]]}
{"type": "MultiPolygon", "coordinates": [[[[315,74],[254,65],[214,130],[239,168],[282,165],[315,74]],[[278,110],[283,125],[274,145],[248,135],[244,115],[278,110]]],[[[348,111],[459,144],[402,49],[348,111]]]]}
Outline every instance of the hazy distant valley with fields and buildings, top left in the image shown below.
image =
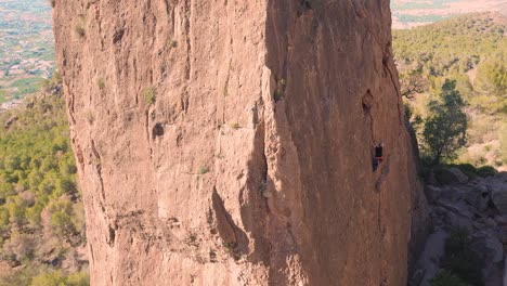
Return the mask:
{"type": "Polygon", "coordinates": [[[55,65],[49,1],[0,0],[0,18],[1,104],[36,92],[55,65]]]}

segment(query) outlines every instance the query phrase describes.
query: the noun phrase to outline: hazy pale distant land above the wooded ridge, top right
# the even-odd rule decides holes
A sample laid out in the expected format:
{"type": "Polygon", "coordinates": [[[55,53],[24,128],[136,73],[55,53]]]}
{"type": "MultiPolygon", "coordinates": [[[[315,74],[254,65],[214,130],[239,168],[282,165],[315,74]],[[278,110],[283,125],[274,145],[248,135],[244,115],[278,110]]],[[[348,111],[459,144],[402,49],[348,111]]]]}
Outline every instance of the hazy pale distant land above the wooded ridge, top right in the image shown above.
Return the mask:
{"type": "Polygon", "coordinates": [[[392,0],[392,27],[411,28],[472,12],[507,13],[507,0],[392,0]]]}

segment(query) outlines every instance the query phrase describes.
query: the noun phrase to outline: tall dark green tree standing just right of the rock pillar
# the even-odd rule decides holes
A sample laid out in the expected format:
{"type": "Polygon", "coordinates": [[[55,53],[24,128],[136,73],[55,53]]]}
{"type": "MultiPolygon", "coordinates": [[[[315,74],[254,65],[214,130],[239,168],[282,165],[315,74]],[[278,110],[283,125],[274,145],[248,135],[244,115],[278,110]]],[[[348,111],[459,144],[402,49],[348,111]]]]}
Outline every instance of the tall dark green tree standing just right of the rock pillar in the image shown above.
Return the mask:
{"type": "Polygon", "coordinates": [[[428,104],[430,116],[425,119],[422,147],[432,164],[453,158],[456,151],[467,144],[467,115],[465,102],[456,90],[456,81],[445,80],[438,100],[428,104]]]}

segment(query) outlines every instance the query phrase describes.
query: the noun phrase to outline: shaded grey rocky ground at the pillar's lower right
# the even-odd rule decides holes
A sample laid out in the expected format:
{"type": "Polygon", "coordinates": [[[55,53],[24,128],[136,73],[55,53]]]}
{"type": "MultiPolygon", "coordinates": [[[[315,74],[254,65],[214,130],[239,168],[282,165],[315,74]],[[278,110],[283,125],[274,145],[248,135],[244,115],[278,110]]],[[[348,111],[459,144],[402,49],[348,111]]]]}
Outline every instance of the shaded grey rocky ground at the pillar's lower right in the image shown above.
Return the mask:
{"type": "MultiPolygon", "coordinates": [[[[468,178],[467,180],[468,181],[468,178]]],[[[440,271],[444,242],[453,230],[464,229],[470,235],[471,250],[481,261],[484,285],[503,285],[505,247],[507,246],[507,216],[502,204],[495,203],[507,185],[507,173],[490,178],[474,178],[467,184],[427,185],[425,192],[431,203],[429,210],[433,232],[416,264],[411,285],[430,286],[440,271]]],[[[502,200],[503,202],[503,200],[502,200]]]]}

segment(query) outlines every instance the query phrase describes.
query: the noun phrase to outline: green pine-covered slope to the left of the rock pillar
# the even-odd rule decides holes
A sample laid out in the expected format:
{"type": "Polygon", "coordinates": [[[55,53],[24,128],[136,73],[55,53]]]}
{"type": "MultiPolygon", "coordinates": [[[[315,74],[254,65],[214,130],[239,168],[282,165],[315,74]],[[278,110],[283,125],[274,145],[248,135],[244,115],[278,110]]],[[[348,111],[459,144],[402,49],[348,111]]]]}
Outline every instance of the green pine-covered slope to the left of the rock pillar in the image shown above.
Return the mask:
{"type": "Polygon", "coordinates": [[[60,79],[0,114],[0,285],[88,285],[60,79]],[[84,272],[83,272],[84,271],[84,272]]]}

